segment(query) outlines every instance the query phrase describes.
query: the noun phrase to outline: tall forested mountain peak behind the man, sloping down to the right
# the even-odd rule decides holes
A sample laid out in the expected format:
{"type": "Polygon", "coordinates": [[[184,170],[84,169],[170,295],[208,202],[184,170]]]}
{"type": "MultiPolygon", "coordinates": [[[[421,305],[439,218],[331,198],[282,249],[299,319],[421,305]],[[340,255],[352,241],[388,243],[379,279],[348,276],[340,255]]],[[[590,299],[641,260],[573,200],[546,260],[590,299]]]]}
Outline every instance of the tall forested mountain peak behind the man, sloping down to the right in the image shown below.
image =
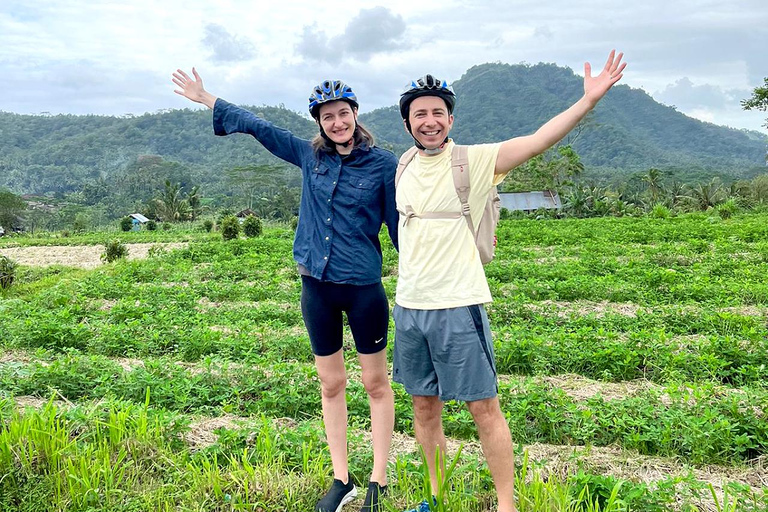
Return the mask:
{"type": "MultiPolygon", "coordinates": [[[[554,64],[482,64],[453,87],[458,102],[452,136],[474,144],[533,133],[582,95],[583,78],[554,64]]],[[[363,119],[381,139],[411,143],[397,108],[363,119]]],[[[764,171],[768,141],[759,132],[692,119],[626,85],[615,86],[570,138],[587,171],[657,167],[726,177],[764,171]]]]}

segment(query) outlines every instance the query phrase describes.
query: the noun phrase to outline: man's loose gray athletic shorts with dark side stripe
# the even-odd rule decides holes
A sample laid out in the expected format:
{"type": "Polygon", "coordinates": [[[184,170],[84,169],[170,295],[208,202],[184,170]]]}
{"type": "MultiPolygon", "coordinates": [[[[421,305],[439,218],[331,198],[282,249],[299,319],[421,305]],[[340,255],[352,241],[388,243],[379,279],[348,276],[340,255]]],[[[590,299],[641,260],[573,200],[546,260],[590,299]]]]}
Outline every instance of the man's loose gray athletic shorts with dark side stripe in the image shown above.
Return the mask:
{"type": "Polygon", "coordinates": [[[473,402],[497,395],[496,362],[482,305],[408,309],[395,305],[393,378],[409,395],[473,402]]]}

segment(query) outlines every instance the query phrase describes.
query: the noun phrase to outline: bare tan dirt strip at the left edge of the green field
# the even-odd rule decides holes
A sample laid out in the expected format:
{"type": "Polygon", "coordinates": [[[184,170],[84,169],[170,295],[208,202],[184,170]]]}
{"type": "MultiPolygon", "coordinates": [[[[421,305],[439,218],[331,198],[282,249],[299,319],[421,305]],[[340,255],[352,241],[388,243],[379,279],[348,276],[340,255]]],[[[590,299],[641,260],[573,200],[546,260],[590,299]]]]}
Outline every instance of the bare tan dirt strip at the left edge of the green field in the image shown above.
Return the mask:
{"type": "MultiPolygon", "coordinates": [[[[152,246],[170,251],[187,247],[187,243],[125,244],[125,246],[128,248],[128,259],[135,260],[146,258],[149,248],[152,246]]],[[[0,249],[0,255],[11,258],[19,265],[30,267],[64,265],[85,269],[102,265],[101,254],[103,252],[103,245],[52,245],[0,249]]]]}

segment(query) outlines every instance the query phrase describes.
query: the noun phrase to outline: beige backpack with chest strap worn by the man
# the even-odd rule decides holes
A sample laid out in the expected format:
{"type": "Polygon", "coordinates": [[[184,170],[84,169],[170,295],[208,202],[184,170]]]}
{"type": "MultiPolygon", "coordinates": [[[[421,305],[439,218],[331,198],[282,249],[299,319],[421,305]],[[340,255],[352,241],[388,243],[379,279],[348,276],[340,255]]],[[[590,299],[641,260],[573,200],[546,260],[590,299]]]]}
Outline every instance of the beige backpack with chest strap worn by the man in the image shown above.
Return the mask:
{"type": "MultiPolygon", "coordinates": [[[[477,251],[480,253],[480,261],[485,265],[493,260],[494,252],[496,251],[496,225],[499,223],[499,216],[501,215],[501,199],[496,187],[492,187],[490,192],[488,192],[483,216],[477,225],[477,231],[475,231],[469,212],[469,157],[467,156],[467,149],[468,146],[456,144],[451,151],[453,185],[456,187],[456,194],[459,196],[459,201],[461,201],[460,212],[423,212],[417,214],[413,211],[411,205],[407,205],[405,211],[400,213],[405,216],[403,225],[407,224],[412,217],[420,219],[458,219],[464,217],[467,219],[467,226],[469,226],[469,231],[475,239],[477,251]]],[[[413,160],[418,151],[418,148],[412,147],[400,157],[400,161],[397,164],[397,174],[395,174],[395,186],[399,183],[400,176],[402,176],[403,171],[405,171],[405,168],[411,163],[411,160],[413,160]]]]}

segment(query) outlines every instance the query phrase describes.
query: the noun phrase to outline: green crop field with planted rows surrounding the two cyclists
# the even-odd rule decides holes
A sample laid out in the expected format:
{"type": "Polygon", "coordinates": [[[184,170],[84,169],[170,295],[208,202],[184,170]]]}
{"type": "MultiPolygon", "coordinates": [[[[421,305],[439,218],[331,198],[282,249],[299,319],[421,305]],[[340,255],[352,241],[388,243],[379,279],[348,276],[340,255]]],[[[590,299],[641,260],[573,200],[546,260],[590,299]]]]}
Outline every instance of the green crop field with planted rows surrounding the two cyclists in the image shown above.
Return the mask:
{"type": "MultiPolygon", "coordinates": [[[[25,261],[0,295],[0,510],[311,510],[330,461],[292,235],[186,237],[88,269],[25,261]]],[[[498,235],[488,309],[520,510],[768,510],[768,216],[498,235]]],[[[389,248],[384,274],[393,301],[389,248]]],[[[346,354],[364,484],[368,406],[346,354]]],[[[394,388],[398,510],[425,490],[394,388]]],[[[444,423],[460,452],[444,510],[493,510],[469,413],[449,403],[444,423]]]]}

